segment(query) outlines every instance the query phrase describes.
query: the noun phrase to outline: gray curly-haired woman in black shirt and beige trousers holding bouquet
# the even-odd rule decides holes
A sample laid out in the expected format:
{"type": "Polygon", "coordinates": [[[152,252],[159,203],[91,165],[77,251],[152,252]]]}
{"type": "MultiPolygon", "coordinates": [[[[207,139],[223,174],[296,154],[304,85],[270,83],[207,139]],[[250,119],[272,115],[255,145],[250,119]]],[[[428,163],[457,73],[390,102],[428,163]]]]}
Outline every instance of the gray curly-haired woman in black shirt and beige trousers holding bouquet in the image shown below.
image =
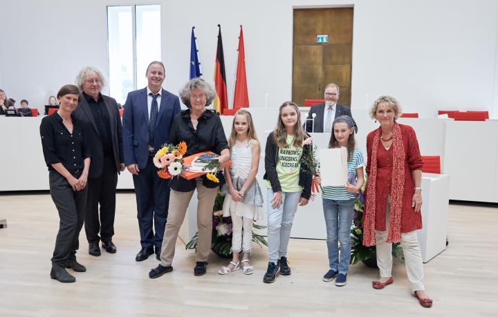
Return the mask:
{"type": "MultiPolygon", "coordinates": [[[[187,144],[185,157],[202,151],[212,151],[219,155],[218,160],[221,164],[228,162],[230,150],[221,119],[216,113],[205,108],[216,97],[214,88],[204,79],[194,78],[185,84],[180,91],[180,97],[189,108],[174,117],[171,131],[169,131],[169,142],[172,144],[185,142],[187,144]]],[[[169,211],[160,253],[161,263],[158,267],[151,269],[149,278],[158,278],[173,270],[172,262],[176,238],[195,189],[197,189],[197,199],[199,200],[197,203],[199,240],[194,275],[205,274],[211,249],[212,211],[219,185],[219,183],[208,180],[205,175],[192,180],[172,177],[169,185],[171,187],[169,211]]]]}

